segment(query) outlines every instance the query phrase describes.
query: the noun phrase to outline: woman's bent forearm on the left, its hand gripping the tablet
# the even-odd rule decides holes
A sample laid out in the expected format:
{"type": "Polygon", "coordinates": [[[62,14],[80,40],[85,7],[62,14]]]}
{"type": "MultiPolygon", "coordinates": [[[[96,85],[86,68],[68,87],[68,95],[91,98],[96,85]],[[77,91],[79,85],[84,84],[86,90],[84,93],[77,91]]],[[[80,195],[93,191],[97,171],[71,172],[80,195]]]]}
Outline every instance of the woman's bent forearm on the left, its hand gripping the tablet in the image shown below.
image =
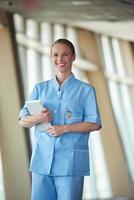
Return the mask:
{"type": "Polygon", "coordinates": [[[36,115],[28,115],[19,120],[19,124],[24,128],[30,128],[38,123],[40,123],[40,119],[36,115]]]}

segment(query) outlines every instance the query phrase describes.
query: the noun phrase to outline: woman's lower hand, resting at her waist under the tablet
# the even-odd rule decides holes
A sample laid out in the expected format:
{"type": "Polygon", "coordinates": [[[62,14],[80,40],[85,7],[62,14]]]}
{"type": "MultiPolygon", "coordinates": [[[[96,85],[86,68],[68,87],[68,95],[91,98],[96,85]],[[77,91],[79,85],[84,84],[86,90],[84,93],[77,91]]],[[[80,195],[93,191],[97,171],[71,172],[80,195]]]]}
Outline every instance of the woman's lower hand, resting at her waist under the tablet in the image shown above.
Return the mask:
{"type": "Polygon", "coordinates": [[[64,127],[64,125],[50,126],[47,129],[47,131],[48,131],[49,135],[58,137],[65,133],[65,127],[64,127]]]}

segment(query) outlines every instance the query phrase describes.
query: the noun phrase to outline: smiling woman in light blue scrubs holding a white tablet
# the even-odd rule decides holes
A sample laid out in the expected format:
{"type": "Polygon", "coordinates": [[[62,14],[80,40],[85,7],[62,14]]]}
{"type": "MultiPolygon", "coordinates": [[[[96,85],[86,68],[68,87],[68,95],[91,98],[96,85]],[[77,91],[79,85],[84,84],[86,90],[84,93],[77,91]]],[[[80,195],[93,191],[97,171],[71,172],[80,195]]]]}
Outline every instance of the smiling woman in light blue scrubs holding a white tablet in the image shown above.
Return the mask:
{"type": "Polygon", "coordinates": [[[44,108],[31,116],[26,105],[20,111],[22,127],[50,122],[39,132],[30,163],[32,200],[81,200],[84,176],[90,174],[88,139],[101,128],[94,88],[72,73],[73,44],[58,39],[51,47],[55,79],[37,83],[29,100],[40,99],[44,108]]]}

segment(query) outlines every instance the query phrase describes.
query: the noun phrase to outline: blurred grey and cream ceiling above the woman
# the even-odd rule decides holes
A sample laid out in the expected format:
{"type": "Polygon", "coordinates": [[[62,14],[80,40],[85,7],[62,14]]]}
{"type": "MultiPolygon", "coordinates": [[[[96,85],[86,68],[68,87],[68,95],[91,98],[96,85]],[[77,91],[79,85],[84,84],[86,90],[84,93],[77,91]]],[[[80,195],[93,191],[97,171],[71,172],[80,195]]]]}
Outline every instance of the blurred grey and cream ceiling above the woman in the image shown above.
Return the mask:
{"type": "Polygon", "coordinates": [[[0,8],[134,41],[134,0],[0,0],[0,8]]]}

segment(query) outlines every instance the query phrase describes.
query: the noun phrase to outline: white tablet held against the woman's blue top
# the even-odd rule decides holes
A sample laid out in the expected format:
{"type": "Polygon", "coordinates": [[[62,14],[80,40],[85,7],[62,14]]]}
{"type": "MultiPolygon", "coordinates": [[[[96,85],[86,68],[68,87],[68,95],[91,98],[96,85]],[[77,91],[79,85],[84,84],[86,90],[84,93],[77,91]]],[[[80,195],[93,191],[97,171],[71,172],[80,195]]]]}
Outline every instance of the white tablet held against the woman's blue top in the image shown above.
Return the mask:
{"type": "MultiPolygon", "coordinates": [[[[38,114],[43,108],[43,103],[40,100],[31,100],[25,102],[26,107],[31,115],[38,114]]],[[[40,123],[35,126],[37,131],[46,131],[51,126],[51,123],[40,123]]]]}

